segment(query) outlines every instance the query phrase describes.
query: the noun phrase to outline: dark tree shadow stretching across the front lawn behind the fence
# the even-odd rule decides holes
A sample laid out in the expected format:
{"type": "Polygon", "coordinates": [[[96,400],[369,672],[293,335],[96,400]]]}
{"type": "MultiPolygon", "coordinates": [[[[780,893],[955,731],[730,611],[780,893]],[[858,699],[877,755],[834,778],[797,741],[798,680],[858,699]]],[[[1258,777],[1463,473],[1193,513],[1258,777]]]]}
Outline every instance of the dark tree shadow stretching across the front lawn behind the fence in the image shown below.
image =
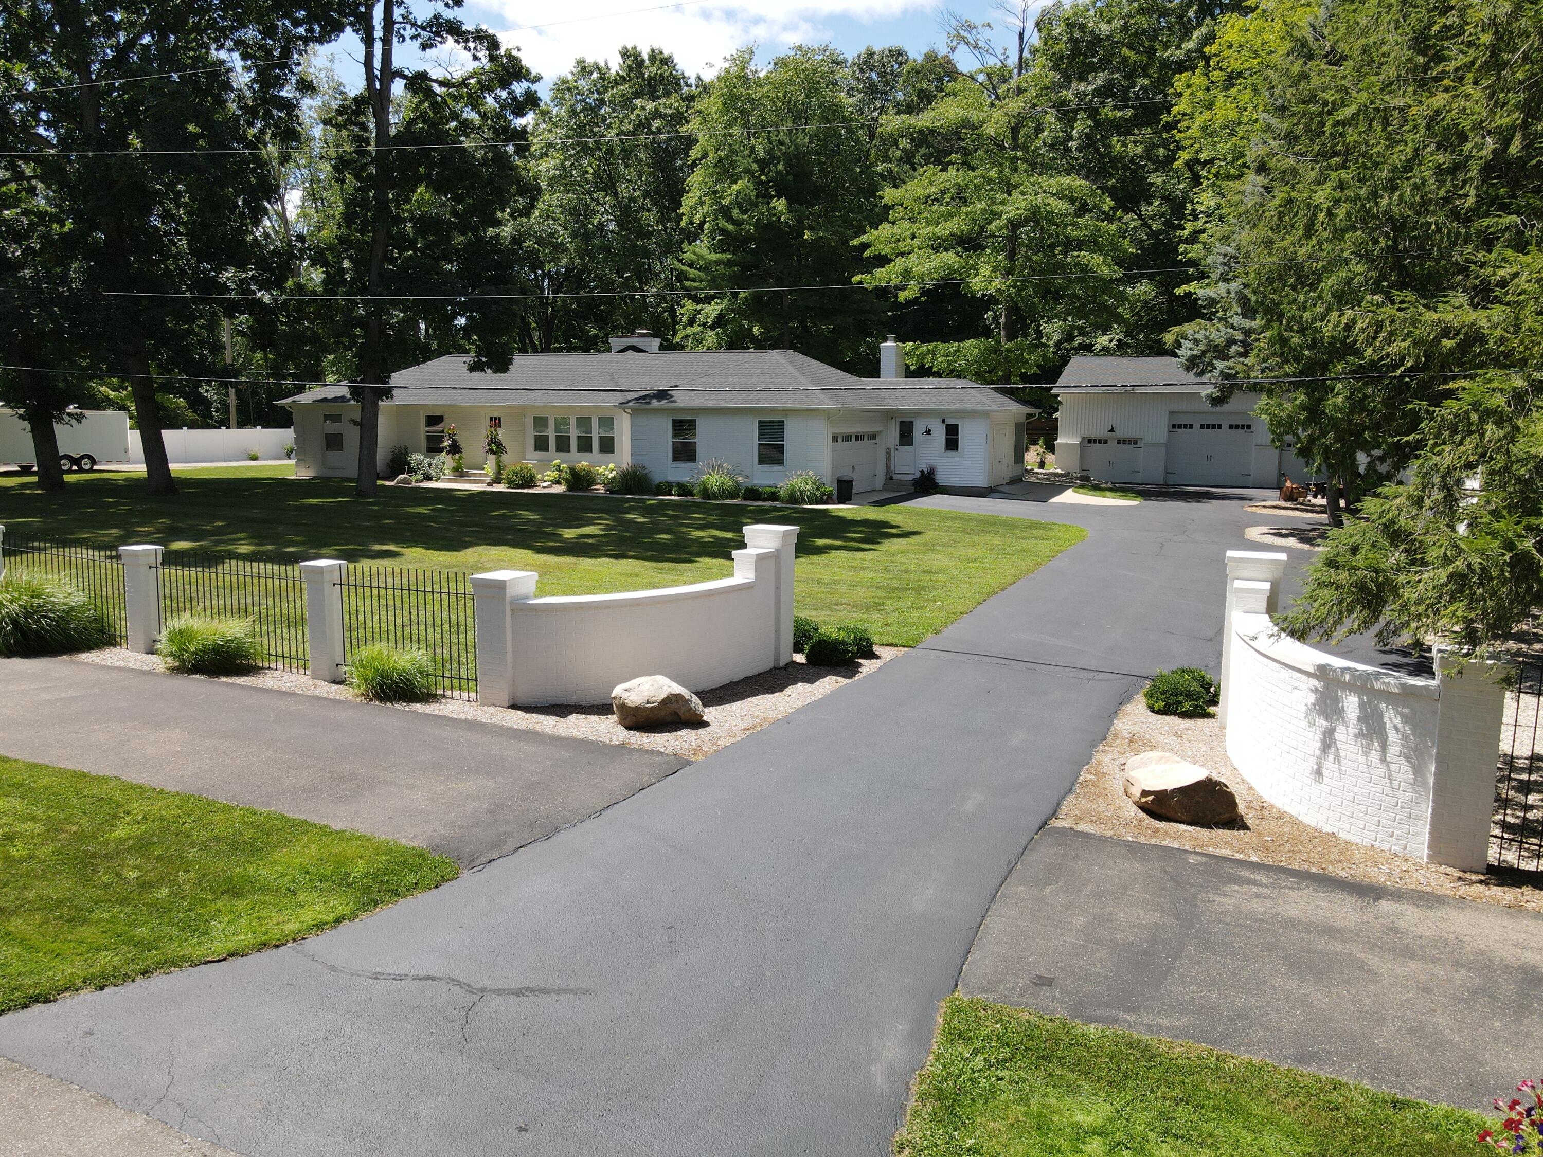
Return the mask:
{"type": "Polygon", "coordinates": [[[640,497],[478,494],[383,486],[373,500],[333,478],[185,478],[154,498],[136,477],[71,480],[65,494],[0,487],[0,525],[19,534],[99,546],[196,543],[202,551],[275,562],[410,551],[511,548],[549,557],[682,563],[727,558],[748,523],[799,528],[799,555],[875,551],[921,534],[878,511],[696,503],[640,497]],[[88,491],[88,494],[82,494],[88,491]],[[85,501],[83,501],[85,500],[85,501]]]}

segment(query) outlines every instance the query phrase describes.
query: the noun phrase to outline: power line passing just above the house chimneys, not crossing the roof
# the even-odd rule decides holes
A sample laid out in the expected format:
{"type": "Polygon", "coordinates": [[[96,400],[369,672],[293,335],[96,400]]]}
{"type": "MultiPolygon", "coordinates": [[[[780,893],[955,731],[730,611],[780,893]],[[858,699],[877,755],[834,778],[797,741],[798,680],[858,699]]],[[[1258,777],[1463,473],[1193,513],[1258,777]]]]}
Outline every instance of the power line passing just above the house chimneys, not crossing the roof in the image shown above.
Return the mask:
{"type": "MultiPolygon", "coordinates": [[[[1239,261],[1230,268],[1258,268],[1273,265],[1321,265],[1329,261],[1383,261],[1387,258],[1438,258],[1447,256],[1450,250],[1395,250],[1392,253],[1335,253],[1322,258],[1288,258],[1278,261],[1239,261]]],[[[605,298],[694,298],[725,293],[810,293],[824,290],[875,290],[875,288],[932,288],[944,285],[1001,285],[1012,282],[1037,281],[1085,281],[1091,278],[1136,278],[1156,273],[1204,273],[1205,265],[1157,265],[1153,268],[1129,268],[1082,273],[1020,273],[1008,278],[937,278],[932,281],[833,281],[816,285],[745,285],[730,288],[659,288],[659,290],[594,290],[585,293],[187,293],[187,292],[154,292],[154,290],[89,290],[94,296],[103,298],[150,298],[176,301],[589,301],[605,298]]],[[[0,288],[0,293],[22,296],[28,293],[43,293],[37,288],[0,288]]],[[[65,290],[49,290],[51,293],[66,293],[65,290]]]]}

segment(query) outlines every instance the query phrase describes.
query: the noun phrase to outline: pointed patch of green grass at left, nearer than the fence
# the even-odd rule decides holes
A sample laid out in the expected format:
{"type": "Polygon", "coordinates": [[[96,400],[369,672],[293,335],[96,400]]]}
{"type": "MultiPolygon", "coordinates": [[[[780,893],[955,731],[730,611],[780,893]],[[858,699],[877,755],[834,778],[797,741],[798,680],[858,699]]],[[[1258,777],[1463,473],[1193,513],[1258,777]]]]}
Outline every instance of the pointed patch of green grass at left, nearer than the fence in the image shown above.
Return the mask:
{"type": "Polygon", "coordinates": [[[284,944],[455,875],[424,848],[0,756],[0,1012],[284,944]]]}

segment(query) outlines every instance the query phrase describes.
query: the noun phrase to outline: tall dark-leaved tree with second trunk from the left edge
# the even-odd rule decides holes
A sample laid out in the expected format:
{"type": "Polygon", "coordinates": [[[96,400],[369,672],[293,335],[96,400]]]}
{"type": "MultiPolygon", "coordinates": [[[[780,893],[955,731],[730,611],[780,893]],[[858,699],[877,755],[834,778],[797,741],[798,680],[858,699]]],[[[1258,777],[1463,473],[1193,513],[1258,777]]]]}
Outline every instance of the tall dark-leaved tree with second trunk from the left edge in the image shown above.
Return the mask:
{"type": "Polygon", "coordinates": [[[332,0],[0,0],[0,59],[25,62],[3,136],[28,151],[5,179],[60,222],[37,256],[89,302],[71,336],[128,383],[153,494],[176,489],[156,375],[218,364],[218,316],[177,295],[256,287],[250,150],[292,131],[293,59],[341,23],[332,0]]]}

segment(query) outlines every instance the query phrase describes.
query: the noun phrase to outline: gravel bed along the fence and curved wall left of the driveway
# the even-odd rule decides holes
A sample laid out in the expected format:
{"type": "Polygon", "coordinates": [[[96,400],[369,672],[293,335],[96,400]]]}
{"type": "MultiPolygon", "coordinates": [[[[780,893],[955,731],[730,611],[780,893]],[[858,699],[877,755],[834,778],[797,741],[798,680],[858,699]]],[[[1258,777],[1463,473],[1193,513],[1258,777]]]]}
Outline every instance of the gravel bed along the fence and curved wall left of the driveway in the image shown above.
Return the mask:
{"type": "MultiPolygon", "coordinates": [[[[520,727],[572,739],[594,739],[602,744],[642,747],[687,759],[702,759],[728,747],[736,739],[744,739],[751,731],[759,731],[767,724],[775,724],[805,703],[830,694],[838,686],[876,671],[895,656],[903,654],[904,649],[903,646],[878,646],[875,648],[876,659],[863,659],[852,666],[810,666],[804,662],[804,656],[793,656],[793,662],[784,668],[762,671],[736,683],[699,693],[697,697],[707,708],[707,722],[676,724],[647,731],[628,731],[620,727],[616,716],[611,714],[609,705],[515,708],[468,703],[460,699],[432,699],[427,703],[390,703],[390,707],[401,711],[429,711],[454,719],[477,719],[500,727],[520,727]]],[[[131,666],[140,671],[165,670],[157,656],[137,654],[119,646],[66,657],[103,666],[131,666]]],[[[202,679],[204,676],[185,677],[202,679]]],[[[219,682],[295,691],[326,699],[360,699],[341,683],[322,683],[310,676],[290,671],[222,676],[219,682]]]]}

